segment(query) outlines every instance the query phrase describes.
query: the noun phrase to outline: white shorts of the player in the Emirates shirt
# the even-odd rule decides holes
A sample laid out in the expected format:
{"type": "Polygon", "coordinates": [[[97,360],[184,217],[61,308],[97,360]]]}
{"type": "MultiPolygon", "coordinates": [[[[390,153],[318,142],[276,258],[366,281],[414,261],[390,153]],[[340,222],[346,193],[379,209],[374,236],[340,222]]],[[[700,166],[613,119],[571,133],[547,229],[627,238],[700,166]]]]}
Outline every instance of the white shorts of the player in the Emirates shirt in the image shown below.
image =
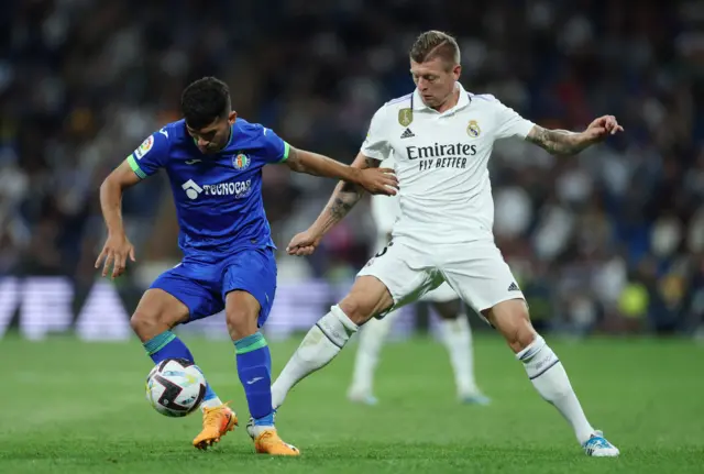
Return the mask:
{"type": "Polygon", "coordinates": [[[492,240],[436,246],[394,239],[359,276],[374,276],[388,288],[394,298],[392,310],[420,300],[443,282],[477,312],[509,299],[525,300],[492,240]]]}

